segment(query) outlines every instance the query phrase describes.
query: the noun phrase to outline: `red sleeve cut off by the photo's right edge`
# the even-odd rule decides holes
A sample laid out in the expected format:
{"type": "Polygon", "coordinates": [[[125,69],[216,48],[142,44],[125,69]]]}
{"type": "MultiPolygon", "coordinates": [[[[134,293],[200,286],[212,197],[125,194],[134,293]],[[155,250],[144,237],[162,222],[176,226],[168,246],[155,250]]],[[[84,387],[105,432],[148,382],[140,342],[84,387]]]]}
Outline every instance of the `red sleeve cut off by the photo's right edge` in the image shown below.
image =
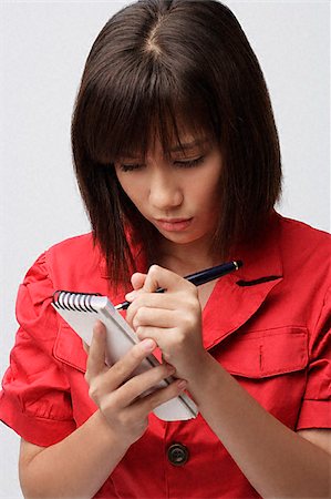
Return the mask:
{"type": "Polygon", "coordinates": [[[297,430],[331,428],[331,288],[328,289],[309,352],[310,365],[297,430]]]}

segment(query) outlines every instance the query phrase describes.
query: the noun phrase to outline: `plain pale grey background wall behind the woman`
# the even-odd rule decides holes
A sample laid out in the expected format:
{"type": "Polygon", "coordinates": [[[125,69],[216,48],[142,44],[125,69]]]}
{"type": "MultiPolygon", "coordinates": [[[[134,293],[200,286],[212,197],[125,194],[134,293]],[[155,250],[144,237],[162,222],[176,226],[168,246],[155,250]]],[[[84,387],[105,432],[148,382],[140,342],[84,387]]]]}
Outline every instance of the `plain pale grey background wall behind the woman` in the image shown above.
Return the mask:
{"type": "MultiPolygon", "coordinates": [[[[17,288],[53,243],[89,231],[71,166],[70,119],[97,32],[125,1],[0,3],[0,376],[17,288]]],[[[330,230],[329,1],[226,1],[255,49],[280,134],[279,211],[330,230]]],[[[0,425],[0,497],[20,498],[19,438],[0,425]]]]}

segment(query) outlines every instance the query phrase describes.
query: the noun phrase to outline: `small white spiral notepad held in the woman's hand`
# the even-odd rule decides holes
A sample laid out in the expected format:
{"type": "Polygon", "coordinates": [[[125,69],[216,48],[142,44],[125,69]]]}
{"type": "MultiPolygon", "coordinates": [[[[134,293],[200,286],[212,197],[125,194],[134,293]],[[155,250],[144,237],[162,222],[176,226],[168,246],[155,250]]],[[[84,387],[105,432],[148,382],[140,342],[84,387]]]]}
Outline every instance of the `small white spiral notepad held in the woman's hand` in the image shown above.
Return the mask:
{"type": "MultiPolygon", "coordinates": [[[[91,345],[95,322],[99,319],[105,325],[106,363],[110,366],[139,342],[134,330],[106,296],[58,291],[54,293],[52,305],[87,345],[91,345]]],[[[159,363],[156,357],[148,355],[133,371],[133,376],[157,365],[159,363]]],[[[164,379],[157,388],[169,385],[172,380],[172,377],[164,379]]],[[[165,421],[175,421],[195,418],[198,410],[193,400],[183,394],[158,406],[154,409],[154,414],[165,421]]]]}

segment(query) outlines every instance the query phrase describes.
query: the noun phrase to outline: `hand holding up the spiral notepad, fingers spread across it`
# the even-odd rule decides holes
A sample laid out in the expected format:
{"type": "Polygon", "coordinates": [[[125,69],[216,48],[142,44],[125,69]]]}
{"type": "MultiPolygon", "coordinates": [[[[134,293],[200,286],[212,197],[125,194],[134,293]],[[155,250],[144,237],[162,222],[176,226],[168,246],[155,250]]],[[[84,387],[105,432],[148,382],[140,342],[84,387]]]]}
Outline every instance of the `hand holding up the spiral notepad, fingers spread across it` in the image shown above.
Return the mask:
{"type": "Polygon", "coordinates": [[[90,385],[89,395],[99,406],[112,430],[131,445],[147,428],[148,414],[155,407],[182,394],[186,383],[178,379],[139,398],[162,379],[174,374],[175,369],[163,364],[130,378],[133,370],[154,350],[155,342],[153,339],[141,342],[116,364],[108,367],[105,365],[105,333],[104,325],[97,322],[93,329],[85,374],[90,385]]]}

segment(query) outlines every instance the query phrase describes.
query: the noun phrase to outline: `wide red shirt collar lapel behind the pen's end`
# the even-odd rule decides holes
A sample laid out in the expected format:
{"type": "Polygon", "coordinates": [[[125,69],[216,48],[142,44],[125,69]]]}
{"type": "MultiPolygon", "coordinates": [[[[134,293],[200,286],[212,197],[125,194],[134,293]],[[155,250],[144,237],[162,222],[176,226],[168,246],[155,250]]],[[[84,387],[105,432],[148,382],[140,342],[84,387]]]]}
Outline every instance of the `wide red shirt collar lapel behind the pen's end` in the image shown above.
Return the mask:
{"type": "Polygon", "coordinates": [[[217,282],[206,304],[205,348],[217,345],[247,323],[282,281],[280,237],[280,216],[272,213],[260,236],[234,252],[232,259],[241,259],[244,265],[217,282]]]}

